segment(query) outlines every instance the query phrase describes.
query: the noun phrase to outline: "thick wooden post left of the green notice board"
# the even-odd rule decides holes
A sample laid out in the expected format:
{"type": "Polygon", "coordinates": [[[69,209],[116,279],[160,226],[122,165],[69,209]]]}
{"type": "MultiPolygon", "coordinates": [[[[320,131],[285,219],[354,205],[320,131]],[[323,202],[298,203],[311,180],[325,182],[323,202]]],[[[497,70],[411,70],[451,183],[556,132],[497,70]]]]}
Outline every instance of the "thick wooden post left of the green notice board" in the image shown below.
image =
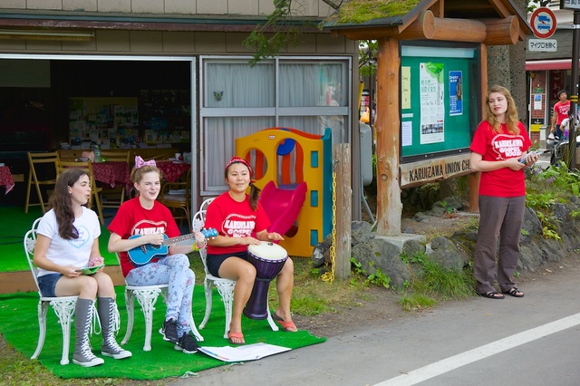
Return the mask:
{"type": "Polygon", "coordinates": [[[379,39],[377,56],[377,234],[401,234],[399,41],[379,39]]]}

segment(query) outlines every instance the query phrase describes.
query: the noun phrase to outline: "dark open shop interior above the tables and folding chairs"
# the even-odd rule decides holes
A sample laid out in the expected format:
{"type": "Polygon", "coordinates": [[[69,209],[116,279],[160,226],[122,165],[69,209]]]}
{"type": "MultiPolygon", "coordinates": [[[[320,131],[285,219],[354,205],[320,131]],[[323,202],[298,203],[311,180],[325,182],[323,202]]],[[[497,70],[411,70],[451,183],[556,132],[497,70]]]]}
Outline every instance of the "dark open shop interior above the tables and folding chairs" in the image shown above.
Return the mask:
{"type": "MultiPolygon", "coordinates": [[[[0,162],[24,181],[27,151],[190,151],[189,61],[4,59],[0,73],[0,162]]],[[[25,188],[0,204],[23,204],[25,188]]]]}

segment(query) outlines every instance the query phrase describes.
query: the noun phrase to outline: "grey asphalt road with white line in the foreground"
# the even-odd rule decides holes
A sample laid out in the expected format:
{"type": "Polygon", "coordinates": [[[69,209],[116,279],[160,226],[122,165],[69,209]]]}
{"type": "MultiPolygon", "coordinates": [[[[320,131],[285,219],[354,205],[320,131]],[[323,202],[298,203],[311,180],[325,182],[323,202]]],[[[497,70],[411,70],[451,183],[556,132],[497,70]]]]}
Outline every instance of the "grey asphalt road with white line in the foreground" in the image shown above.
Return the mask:
{"type": "Polygon", "coordinates": [[[441,304],[171,384],[578,385],[578,275],[580,257],[552,272],[540,268],[519,285],[524,298],[441,304]]]}

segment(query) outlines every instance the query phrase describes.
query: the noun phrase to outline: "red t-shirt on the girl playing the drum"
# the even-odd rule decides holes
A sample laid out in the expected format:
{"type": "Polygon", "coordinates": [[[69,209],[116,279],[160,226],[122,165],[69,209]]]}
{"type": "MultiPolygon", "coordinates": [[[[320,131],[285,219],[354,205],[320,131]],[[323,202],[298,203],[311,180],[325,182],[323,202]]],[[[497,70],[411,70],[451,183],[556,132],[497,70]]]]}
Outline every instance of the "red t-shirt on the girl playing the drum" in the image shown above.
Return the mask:
{"type": "MultiPolygon", "coordinates": [[[[258,203],[257,210],[252,210],[250,200],[246,199],[237,202],[223,193],[214,199],[208,207],[206,216],[206,228],[216,228],[218,234],[226,237],[247,237],[253,236],[270,226],[264,208],[258,203]]],[[[234,254],[244,252],[247,246],[208,246],[208,254],[234,254]]]]}

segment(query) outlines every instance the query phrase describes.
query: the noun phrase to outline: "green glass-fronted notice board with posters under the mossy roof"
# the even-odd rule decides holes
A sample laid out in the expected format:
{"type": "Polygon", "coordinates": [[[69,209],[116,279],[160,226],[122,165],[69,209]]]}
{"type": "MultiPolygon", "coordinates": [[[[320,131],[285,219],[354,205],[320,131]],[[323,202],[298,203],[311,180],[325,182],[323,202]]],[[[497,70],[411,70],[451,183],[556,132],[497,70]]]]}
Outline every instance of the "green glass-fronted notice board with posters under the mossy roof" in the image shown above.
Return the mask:
{"type": "Polygon", "coordinates": [[[401,44],[401,163],[469,150],[480,105],[477,45],[401,44]]]}

